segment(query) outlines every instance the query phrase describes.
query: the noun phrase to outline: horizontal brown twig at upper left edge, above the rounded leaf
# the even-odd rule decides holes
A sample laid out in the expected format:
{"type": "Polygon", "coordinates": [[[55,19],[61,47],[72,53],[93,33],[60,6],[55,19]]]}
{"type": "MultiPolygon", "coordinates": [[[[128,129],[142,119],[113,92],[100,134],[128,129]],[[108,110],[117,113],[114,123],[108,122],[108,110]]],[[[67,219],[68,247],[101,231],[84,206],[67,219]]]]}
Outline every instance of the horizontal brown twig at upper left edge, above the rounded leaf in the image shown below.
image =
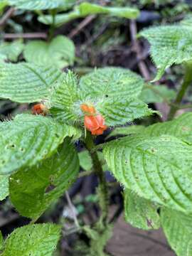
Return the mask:
{"type": "Polygon", "coordinates": [[[16,39],[16,38],[43,38],[46,39],[48,35],[46,33],[4,33],[2,35],[4,39],[16,39]]]}

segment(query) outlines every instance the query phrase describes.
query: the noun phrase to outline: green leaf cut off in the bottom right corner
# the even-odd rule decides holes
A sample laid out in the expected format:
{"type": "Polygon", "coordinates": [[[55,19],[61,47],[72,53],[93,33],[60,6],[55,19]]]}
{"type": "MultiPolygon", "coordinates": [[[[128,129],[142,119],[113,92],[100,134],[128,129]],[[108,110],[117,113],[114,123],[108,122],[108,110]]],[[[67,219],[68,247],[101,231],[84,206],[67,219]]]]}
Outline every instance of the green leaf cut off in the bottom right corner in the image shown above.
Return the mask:
{"type": "Polygon", "coordinates": [[[172,249],[178,256],[192,254],[192,217],[176,210],[161,210],[161,225],[172,249]]]}

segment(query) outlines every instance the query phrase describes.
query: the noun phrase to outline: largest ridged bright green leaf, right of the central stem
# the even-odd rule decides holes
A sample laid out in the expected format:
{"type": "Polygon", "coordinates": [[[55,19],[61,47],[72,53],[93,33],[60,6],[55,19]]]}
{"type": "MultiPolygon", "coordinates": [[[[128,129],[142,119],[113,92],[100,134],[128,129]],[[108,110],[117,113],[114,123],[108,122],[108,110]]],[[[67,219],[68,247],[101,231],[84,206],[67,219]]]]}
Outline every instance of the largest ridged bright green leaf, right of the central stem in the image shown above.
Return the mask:
{"type": "Polygon", "coordinates": [[[169,135],[124,137],[104,156],[125,188],[162,206],[192,213],[192,146],[169,135]]]}

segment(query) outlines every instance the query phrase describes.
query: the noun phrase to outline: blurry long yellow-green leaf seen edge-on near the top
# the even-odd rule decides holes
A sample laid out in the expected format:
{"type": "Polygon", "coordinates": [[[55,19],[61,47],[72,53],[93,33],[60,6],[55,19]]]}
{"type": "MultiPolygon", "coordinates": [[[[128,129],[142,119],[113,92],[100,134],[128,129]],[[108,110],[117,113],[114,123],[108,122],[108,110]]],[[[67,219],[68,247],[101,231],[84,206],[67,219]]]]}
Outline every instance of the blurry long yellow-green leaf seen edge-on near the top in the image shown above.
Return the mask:
{"type": "MultiPolygon", "coordinates": [[[[57,14],[55,16],[55,26],[61,26],[69,21],[73,21],[75,18],[82,18],[91,14],[106,14],[122,18],[137,18],[137,16],[139,16],[139,10],[130,7],[108,7],[84,2],[79,6],[75,6],[73,11],[70,11],[67,14],[57,14]]],[[[43,15],[38,17],[38,21],[49,25],[53,23],[53,17],[50,15],[43,15]]]]}

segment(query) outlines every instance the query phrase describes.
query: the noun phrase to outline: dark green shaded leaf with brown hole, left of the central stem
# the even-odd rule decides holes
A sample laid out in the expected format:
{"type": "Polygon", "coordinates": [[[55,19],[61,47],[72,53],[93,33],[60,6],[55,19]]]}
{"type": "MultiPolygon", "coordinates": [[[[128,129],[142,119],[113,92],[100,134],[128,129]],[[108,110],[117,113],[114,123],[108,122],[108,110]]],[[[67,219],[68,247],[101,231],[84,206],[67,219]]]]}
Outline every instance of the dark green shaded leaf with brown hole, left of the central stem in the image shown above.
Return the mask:
{"type": "Polygon", "coordinates": [[[66,138],[50,159],[11,175],[11,203],[21,215],[38,218],[70,188],[78,176],[79,167],[77,151],[71,140],[66,138]]]}

